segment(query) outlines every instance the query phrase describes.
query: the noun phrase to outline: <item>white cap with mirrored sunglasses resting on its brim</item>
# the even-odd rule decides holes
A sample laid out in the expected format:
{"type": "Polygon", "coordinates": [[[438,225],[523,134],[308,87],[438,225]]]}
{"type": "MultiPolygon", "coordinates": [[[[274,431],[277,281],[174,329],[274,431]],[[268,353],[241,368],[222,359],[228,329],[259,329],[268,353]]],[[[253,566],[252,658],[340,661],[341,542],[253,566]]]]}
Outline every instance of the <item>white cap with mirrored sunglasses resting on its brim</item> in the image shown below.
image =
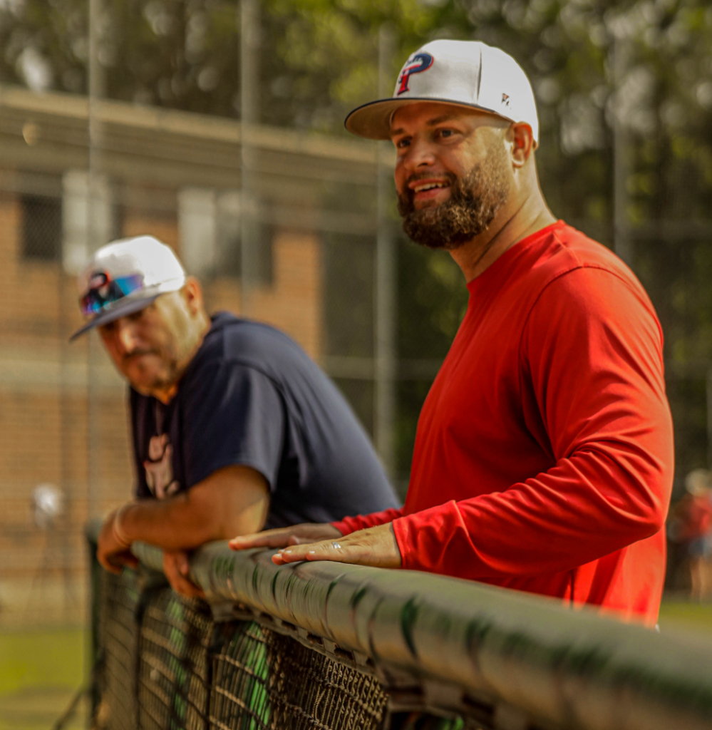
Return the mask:
{"type": "Polygon", "coordinates": [[[152,236],[107,243],[77,277],[82,314],[88,318],[69,338],[139,312],[160,294],[185,284],[185,269],[171,248],[152,236]]]}

